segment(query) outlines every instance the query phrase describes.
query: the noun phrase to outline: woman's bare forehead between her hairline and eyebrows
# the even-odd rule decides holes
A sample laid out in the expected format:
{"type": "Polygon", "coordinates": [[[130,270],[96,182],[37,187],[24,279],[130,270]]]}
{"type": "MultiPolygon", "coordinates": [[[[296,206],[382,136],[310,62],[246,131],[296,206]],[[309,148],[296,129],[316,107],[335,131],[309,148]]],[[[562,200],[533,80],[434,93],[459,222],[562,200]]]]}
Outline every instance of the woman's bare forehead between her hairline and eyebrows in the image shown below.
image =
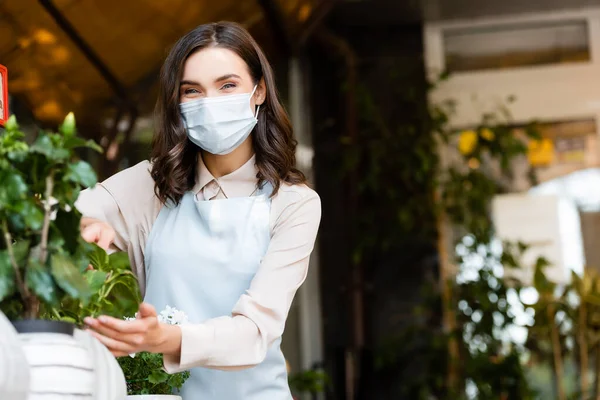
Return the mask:
{"type": "Polygon", "coordinates": [[[240,56],[229,49],[208,47],[188,57],[183,67],[182,80],[212,82],[227,74],[250,79],[248,66],[240,56]]]}

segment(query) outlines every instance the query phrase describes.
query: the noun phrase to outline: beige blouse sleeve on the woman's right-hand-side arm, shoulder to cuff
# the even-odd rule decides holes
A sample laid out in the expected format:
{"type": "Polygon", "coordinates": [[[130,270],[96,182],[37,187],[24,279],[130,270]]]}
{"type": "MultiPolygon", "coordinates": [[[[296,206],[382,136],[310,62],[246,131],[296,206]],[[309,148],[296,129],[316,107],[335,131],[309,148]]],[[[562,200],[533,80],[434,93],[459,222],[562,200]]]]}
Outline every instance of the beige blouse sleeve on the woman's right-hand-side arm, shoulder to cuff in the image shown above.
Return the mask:
{"type": "Polygon", "coordinates": [[[167,372],[199,366],[222,370],[252,367],[264,360],[270,345],[281,337],[294,295],[306,278],[321,202],[305,186],[282,186],[277,197],[272,207],[280,212],[249,289],[231,315],[181,326],[181,353],[179,357],[165,356],[167,372]]]}

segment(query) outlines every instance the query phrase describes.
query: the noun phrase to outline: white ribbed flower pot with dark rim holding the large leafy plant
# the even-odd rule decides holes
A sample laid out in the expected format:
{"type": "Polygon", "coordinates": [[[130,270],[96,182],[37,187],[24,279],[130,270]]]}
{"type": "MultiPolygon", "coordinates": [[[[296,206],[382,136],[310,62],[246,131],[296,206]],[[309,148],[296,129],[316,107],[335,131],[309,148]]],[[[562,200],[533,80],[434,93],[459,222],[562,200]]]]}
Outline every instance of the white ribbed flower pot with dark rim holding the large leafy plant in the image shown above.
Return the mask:
{"type": "Polygon", "coordinates": [[[58,321],[15,321],[30,372],[28,400],[122,400],[125,377],[116,359],[87,332],[58,321]]]}

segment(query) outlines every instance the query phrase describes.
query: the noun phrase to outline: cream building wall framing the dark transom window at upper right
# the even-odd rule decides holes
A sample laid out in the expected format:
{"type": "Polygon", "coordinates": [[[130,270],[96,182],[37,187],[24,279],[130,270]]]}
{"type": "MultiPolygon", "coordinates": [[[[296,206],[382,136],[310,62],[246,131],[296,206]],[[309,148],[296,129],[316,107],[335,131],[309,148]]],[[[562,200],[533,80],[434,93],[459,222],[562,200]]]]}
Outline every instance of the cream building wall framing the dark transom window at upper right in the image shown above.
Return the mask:
{"type": "MultiPolygon", "coordinates": [[[[446,70],[444,34],[501,27],[535,27],[568,21],[586,21],[588,62],[560,62],[539,66],[456,72],[431,94],[432,102],[448,98],[459,110],[452,119],[457,127],[477,124],[481,113],[514,96],[510,107],[514,122],[561,121],[600,117],[600,9],[537,13],[430,23],[424,28],[425,63],[431,79],[446,70]]],[[[536,38],[532,37],[533,40],[536,38]]],[[[510,36],[506,40],[515,38],[510,36]]],[[[523,38],[521,38],[523,40],[523,38]]],[[[527,39],[529,40],[529,39],[527,39]]],[[[507,47],[514,47],[507,43],[507,47]]],[[[473,44],[475,48],[478,43],[473,44]]],[[[498,47],[498,43],[496,43],[498,47]]],[[[599,125],[598,123],[596,125],[599,125]]]]}

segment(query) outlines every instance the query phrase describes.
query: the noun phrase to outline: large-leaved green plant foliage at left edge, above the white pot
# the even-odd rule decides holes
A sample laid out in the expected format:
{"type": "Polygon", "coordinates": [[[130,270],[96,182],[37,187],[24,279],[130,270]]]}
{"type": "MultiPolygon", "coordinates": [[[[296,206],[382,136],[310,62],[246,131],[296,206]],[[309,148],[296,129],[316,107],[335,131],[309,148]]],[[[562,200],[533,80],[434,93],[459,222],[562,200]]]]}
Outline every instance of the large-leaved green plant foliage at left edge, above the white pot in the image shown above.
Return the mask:
{"type": "Polygon", "coordinates": [[[41,131],[31,145],[24,138],[12,116],[0,133],[0,308],[12,319],[68,301],[87,306],[93,294],[75,201],[96,175],[75,151],[100,148],[76,136],[73,114],[57,133],[41,131]]]}

